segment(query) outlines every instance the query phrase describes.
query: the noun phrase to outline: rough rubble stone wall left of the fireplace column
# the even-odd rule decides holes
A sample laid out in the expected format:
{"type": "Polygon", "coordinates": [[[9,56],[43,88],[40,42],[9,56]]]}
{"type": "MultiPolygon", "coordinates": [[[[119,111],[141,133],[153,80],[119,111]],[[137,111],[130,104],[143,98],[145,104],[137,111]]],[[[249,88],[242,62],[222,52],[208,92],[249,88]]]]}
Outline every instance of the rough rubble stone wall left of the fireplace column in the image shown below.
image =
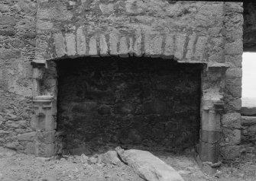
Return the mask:
{"type": "Polygon", "coordinates": [[[37,2],[0,1],[0,146],[34,154],[32,71],[37,2]]]}

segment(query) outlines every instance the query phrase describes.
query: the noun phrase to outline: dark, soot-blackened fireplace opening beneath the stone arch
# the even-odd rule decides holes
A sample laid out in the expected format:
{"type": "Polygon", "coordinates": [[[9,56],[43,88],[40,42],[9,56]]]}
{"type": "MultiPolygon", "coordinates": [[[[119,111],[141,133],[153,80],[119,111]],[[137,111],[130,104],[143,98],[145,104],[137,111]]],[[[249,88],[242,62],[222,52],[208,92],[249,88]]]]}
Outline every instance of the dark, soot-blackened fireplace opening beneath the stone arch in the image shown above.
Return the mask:
{"type": "Polygon", "coordinates": [[[115,56],[57,61],[63,151],[177,153],[199,142],[200,64],[115,56]]]}

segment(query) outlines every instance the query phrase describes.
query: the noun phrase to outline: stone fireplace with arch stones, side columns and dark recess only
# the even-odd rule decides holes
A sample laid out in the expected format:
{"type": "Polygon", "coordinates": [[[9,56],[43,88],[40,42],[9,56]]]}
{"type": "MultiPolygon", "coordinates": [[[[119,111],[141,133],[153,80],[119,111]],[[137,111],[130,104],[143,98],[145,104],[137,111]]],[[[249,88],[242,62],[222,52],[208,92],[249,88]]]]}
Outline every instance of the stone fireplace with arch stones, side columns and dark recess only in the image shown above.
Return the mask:
{"type": "Polygon", "coordinates": [[[208,37],[81,31],[57,33],[56,58],[32,62],[37,156],[196,146],[200,161],[219,161],[227,67],[207,62],[208,37]]]}

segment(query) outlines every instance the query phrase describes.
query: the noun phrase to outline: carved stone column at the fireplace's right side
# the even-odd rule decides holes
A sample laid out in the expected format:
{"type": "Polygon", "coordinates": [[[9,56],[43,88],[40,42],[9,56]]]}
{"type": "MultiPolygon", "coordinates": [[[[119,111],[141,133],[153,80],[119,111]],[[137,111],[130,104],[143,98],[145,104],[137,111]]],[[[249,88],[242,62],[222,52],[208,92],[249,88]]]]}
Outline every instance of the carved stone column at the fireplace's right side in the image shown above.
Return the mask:
{"type": "Polygon", "coordinates": [[[213,174],[219,162],[221,115],[224,110],[223,87],[225,86],[223,64],[208,65],[202,73],[201,129],[196,160],[204,173],[213,174]]]}

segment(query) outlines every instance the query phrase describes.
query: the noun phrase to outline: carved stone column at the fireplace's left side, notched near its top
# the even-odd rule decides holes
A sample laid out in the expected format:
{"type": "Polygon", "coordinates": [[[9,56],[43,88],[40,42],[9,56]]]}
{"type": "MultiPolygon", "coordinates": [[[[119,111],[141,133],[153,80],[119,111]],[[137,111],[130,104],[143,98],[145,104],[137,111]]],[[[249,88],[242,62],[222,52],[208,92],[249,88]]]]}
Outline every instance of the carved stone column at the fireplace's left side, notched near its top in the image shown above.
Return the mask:
{"type": "Polygon", "coordinates": [[[35,155],[37,157],[51,157],[54,155],[54,141],[56,132],[56,101],[53,96],[41,95],[41,80],[47,68],[46,61],[34,61],[33,65],[33,103],[34,115],[31,127],[36,131],[35,155]]]}

